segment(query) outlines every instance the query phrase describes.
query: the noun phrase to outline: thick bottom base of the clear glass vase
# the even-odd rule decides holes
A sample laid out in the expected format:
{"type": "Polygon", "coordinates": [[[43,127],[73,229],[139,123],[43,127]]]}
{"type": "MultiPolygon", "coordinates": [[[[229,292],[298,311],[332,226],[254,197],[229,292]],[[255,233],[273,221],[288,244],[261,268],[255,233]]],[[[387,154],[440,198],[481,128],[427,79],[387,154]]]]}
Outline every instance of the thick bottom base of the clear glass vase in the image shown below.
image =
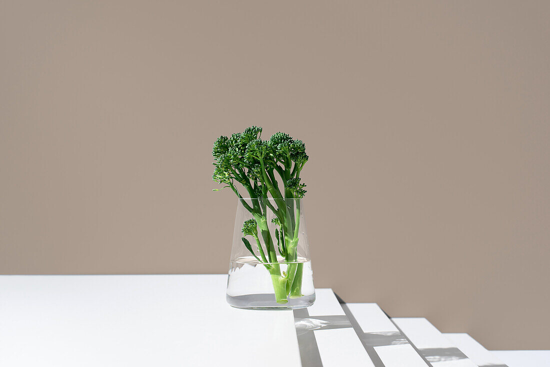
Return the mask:
{"type": "Polygon", "coordinates": [[[299,298],[289,298],[288,303],[281,304],[275,300],[273,293],[226,295],[229,305],[248,310],[295,310],[309,307],[315,302],[315,293],[299,298]]]}

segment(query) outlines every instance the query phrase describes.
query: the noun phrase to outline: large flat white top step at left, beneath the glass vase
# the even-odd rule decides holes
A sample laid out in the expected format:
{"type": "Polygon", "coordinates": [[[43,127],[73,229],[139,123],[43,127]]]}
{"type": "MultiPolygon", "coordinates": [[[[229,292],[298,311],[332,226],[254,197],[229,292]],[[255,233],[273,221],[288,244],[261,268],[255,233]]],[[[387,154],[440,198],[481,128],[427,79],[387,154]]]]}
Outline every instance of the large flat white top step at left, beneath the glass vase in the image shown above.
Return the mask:
{"type": "Polygon", "coordinates": [[[0,276],[0,366],[300,366],[293,312],[232,308],[226,282],[0,276]]]}

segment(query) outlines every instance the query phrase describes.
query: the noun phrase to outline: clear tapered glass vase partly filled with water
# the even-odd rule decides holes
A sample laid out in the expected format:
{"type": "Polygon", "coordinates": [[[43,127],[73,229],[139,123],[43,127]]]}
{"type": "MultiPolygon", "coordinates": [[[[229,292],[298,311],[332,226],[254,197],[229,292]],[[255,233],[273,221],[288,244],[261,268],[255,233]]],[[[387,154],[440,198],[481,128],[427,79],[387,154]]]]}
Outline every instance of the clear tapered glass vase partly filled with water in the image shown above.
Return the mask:
{"type": "Polygon", "coordinates": [[[304,199],[239,199],[227,302],[298,309],[315,302],[304,199]]]}

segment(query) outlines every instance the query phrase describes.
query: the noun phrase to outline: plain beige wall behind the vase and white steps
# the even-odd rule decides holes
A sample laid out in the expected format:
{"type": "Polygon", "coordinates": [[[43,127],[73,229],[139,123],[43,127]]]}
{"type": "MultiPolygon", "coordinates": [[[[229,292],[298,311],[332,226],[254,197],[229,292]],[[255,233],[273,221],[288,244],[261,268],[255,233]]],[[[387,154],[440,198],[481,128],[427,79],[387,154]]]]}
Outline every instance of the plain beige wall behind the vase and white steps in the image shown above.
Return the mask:
{"type": "Polygon", "coordinates": [[[225,273],[255,124],[306,143],[318,287],[550,348],[550,2],[0,4],[0,273],[225,273]]]}

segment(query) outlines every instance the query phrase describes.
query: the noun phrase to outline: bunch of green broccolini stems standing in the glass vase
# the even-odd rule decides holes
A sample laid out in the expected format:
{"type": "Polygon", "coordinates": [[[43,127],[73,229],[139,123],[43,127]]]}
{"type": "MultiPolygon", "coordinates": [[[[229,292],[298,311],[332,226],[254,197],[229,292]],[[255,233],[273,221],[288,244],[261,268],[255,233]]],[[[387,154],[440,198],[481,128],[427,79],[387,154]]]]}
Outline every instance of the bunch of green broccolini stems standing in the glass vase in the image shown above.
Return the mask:
{"type": "Polygon", "coordinates": [[[220,136],[212,149],[215,160],[212,178],[225,184],[224,188],[232,189],[241,204],[252,214],[254,219],[243,224],[243,243],[270,272],[277,303],[284,304],[288,302],[288,297],[302,296],[303,264],[296,260],[300,199],[306,193],[306,185],[301,183],[300,172],[309,157],[303,141],[294,140],[285,133],[276,133],[269,140],[261,140],[261,133],[262,128],[253,126],[229,138],[220,136]],[[282,184],[277,182],[275,173],[282,184]],[[256,199],[251,200],[251,205],[243,199],[236,183],[248,191],[251,199],[256,199]],[[278,227],[274,231],[277,245],[267,225],[268,210],[274,213],[272,222],[278,227]],[[255,254],[246,236],[254,239],[260,257],[255,254]],[[288,263],[285,272],[281,272],[277,251],[288,263]]]}

